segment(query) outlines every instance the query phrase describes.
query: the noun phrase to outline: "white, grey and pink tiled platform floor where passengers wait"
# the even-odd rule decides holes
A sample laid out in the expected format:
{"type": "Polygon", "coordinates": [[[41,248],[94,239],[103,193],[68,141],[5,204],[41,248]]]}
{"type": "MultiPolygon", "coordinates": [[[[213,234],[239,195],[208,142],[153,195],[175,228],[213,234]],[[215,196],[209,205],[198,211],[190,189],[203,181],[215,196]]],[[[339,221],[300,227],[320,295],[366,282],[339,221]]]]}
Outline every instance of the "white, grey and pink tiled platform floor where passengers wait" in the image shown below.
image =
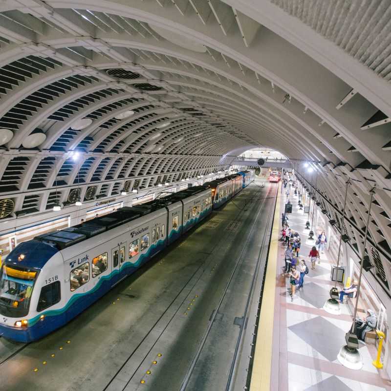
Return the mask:
{"type": "MultiPolygon", "coordinates": [[[[285,190],[281,197],[281,211],[286,202],[285,190]]],[[[280,185],[281,191],[281,185],[280,185]]],[[[314,242],[308,242],[305,222],[308,215],[298,208],[298,198],[290,189],[289,199],[293,204],[288,214],[289,227],[299,232],[302,246],[299,259],[309,265],[309,273],[304,277],[304,288],[296,292],[291,302],[289,279],[282,276],[285,246],[279,242],[276,295],[273,325],[273,353],[270,390],[289,391],[380,391],[391,390],[391,383],[384,369],[376,369],[372,361],[376,358],[376,348],[360,342],[360,352],[364,366],[352,370],[342,366],[337,360],[339,349],[345,345],[345,334],[352,323],[352,315],[347,304],[341,304],[342,314],[330,315],[323,310],[329,299],[329,290],[334,282],[330,279],[332,262],[326,251],[321,255],[321,263],[311,270],[308,259],[314,242]]],[[[281,213],[280,213],[281,232],[281,213]]],[[[337,285],[342,287],[341,284],[337,285]]]]}

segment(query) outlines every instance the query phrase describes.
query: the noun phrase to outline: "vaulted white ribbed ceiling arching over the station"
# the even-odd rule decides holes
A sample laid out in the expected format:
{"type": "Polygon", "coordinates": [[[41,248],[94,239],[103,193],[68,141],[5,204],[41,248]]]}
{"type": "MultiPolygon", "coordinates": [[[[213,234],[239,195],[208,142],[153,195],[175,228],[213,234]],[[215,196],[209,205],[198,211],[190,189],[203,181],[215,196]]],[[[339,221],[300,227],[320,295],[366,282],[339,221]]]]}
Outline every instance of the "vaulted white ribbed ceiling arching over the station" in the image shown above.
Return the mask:
{"type": "Polygon", "coordinates": [[[1,1],[0,205],[14,204],[2,220],[72,203],[74,189],[92,202],[124,184],[226,169],[265,146],[314,184],[301,164],[313,162],[330,218],[352,180],[345,229],[358,254],[376,185],[367,251],[388,290],[390,8],[369,0],[1,1]]]}

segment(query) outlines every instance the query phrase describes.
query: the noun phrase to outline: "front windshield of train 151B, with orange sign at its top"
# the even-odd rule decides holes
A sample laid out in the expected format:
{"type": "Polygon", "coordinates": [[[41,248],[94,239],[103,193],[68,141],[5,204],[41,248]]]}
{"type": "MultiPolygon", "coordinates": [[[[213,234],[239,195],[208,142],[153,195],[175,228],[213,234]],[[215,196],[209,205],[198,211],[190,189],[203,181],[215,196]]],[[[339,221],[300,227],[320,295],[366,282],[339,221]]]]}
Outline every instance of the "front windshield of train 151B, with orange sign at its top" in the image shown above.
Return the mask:
{"type": "Polygon", "coordinates": [[[27,315],[37,271],[3,264],[0,275],[0,314],[27,315]]]}

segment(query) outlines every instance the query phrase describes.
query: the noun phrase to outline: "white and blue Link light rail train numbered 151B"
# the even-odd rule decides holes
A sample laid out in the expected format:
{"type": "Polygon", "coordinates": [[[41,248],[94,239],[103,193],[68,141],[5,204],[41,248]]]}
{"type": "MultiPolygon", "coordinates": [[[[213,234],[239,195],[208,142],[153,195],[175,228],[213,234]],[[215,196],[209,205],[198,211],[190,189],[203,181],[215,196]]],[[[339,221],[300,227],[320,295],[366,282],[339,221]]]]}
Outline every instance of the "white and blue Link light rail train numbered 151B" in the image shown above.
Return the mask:
{"type": "Polygon", "coordinates": [[[242,189],[230,175],[20,243],[0,270],[0,334],[31,342],[65,325],[242,189]]]}

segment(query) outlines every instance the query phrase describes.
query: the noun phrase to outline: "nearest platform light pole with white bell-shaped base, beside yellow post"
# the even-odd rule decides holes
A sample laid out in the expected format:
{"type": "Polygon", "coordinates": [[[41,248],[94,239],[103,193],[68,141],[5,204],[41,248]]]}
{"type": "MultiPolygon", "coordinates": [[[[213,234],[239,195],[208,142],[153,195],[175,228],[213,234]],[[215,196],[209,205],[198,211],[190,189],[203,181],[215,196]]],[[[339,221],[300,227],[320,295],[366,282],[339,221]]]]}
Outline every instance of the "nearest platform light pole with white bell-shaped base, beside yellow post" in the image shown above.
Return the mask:
{"type": "Polygon", "coordinates": [[[367,218],[367,224],[365,226],[365,236],[364,236],[363,249],[361,252],[361,264],[360,264],[360,273],[358,276],[358,284],[357,284],[357,293],[356,293],[357,299],[356,299],[356,305],[354,306],[354,313],[353,313],[353,324],[351,326],[351,329],[345,335],[346,345],[344,345],[339,350],[338,355],[337,355],[338,361],[343,366],[345,366],[349,369],[356,369],[356,370],[363,368],[363,358],[361,356],[361,353],[357,350],[358,338],[357,338],[357,334],[354,331],[355,331],[355,327],[356,327],[355,320],[356,320],[356,315],[357,315],[357,306],[358,306],[358,299],[359,299],[359,294],[360,294],[361,277],[363,275],[365,247],[367,245],[367,238],[368,238],[370,208],[372,206],[373,195],[375,194],[374,187],[372,187],[372,189],[369,190],[369,194],[370,194],[370,199],[369,199],[369,208],[368,208],[368,218],[367,218]]]}

